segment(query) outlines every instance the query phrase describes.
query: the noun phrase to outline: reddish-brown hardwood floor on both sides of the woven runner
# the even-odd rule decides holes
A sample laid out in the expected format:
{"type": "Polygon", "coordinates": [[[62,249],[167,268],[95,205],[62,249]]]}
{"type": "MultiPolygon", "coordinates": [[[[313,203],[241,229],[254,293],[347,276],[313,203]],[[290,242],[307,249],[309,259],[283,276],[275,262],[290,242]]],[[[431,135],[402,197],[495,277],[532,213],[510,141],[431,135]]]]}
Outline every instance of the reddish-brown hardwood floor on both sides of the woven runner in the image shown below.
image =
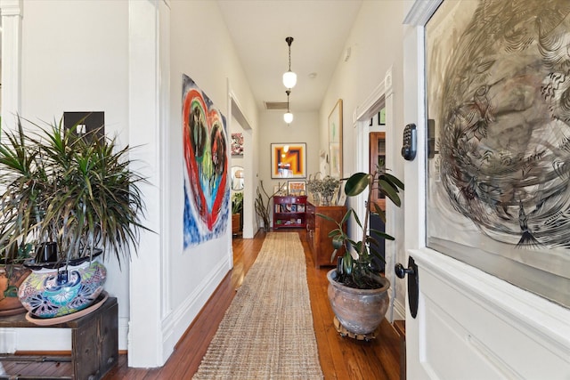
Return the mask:
{"type": "MultiPolygon", "coordinates": [[[[291,231],[291,230],[289,230],[291,231]]],[[[330,268],[316,269],[308,245],[305,243],[305,230],[298,231],[307,263],[307,282],[311,295],[314,331],[317,339],[319,358],[325,379],[399,379],[401,342],[394,327],[386,320],[379,330],[377,339],[370,342],[357,341],[349,337],[339,336],[332,319],[327,297],[328,282],[326,272],[330,268]]],[[[191,379],[196,372],[208,344],[216,333],[216,328],[224,312],[232,302],[235,289],[240,287],[248,269],[255,262],[257,253],[262,247],[265,233],[259,232],[255,239],[233,239],[234,268],[217,287],[198,318],[191,324],[185,335],[175,347],[175,352],[161,368],[128,368],[126,354],[120,355],[118,366],[113,368],[104,379],[191,379]]],[[[29,370],[37,371],[37,364],[12,366],[9,374],[25,375],[29,370]],[[28,367],[29,366],[29,367],[28,367]],[[26,370],[26,368],[28,370],[26,370]],[[15,371],[15,372],[14,372],[15,371]]],[[[42,363],[40,375],[58,376],[62,374],[65,363],[42,363]]],[[[65,372],[63,372],[65,373],[65,372]]],[[[37,372],[36,372],[37,374],[37,372]]],[[[81,379],[83,380],[83,379],[81,379]]]]}

